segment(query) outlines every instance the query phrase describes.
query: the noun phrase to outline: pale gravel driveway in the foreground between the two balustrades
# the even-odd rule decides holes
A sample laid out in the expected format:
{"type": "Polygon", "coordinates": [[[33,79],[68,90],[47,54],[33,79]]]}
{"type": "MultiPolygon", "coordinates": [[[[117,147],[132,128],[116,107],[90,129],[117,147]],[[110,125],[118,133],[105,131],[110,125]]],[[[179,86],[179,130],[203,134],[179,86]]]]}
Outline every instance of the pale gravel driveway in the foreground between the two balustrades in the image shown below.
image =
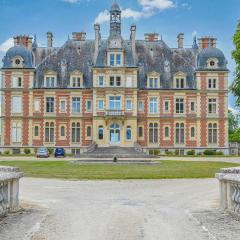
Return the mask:
{"type": "MultiPolygon", "coordinates": [[[[8,218],[0,227],[1,240],[216,240],[215,232],[220,229],[217,223],[211,229],[206,227],[218,217],[217,211],[212,217],[206,214],[217,207],[215,179],[23,178],[21,199],[39,209],[22,214],[21,227],[8,218]]],[[[233,229],[239,229],[239,222],[234,224],[233,229]]]]}

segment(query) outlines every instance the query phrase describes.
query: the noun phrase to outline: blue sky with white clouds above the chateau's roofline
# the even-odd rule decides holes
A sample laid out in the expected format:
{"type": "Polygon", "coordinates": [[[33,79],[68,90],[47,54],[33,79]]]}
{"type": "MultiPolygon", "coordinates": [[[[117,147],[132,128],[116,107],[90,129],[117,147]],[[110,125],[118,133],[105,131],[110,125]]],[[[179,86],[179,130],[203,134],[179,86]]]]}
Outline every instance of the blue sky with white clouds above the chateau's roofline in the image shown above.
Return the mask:
{"type": "MultiPolygon", "coordinates": [[[[122,9],[122,35],[128,39],[130,25],[137,25],[137,39],[144,33],[157,32],[170,46],[176,47],[177,34],[185,34],[184,45],[192,45],[193,36],[214,36],[217,47],[227,60],[229,85],[233,81],[234,49],[232,36],[240,19],[240,0],[118,0],[122,9]]],[[[46,32],[54,35],[54,46],[61,46],[72,32],[84,31],[94,38],[93,24],[101,24],[102,38],[108,37],[109,15],[113,0],[0,0],[1,58],[18,34],[34,36],[46,46],[46,32]]],[[[230,94],[229,107],[234,108],[230,94]]]]}

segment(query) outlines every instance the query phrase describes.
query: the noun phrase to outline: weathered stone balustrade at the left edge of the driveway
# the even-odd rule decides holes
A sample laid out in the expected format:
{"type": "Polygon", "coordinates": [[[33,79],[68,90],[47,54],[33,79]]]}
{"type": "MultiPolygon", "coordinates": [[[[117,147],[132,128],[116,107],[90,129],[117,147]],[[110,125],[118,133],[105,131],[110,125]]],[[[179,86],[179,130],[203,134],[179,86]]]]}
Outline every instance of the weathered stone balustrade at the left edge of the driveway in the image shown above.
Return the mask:
{"type": "Polygon", "coordinates": [[[19,208],[19,179],[23,173],[15,167],[0,166],[0,217],[19,208]]]}

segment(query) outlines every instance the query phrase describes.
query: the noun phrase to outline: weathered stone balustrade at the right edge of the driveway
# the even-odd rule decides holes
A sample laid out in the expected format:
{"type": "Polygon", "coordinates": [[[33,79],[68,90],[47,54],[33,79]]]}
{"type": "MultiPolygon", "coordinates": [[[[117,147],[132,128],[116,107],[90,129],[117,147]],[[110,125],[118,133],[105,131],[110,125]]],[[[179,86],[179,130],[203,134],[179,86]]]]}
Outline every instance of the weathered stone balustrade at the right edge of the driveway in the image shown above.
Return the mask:
{"type": "Polygon", "coordinates": [[[216,174],[220,186],[220,205],[240,215],[240,167],[223,168],[216,174]]]}

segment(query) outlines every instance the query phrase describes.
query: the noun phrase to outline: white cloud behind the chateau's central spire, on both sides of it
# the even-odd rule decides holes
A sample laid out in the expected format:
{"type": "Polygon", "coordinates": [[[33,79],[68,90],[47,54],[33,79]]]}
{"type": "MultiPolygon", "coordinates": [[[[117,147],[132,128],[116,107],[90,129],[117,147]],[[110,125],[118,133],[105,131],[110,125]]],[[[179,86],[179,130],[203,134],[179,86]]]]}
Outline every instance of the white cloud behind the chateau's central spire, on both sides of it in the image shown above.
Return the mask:
{"type": "MultiPolygon", "coordinates": [[[[175,7],[175,4],[172,0],[138,0],[138,3],[141,6],[140,11],[136,11],[131,8],[122,9],[122,18],[133,18],[134,20],[142,17],[148,18],[155,15],[160,10],[166,10],[168,8],[175,7]]],[[[99,24],[104,23],[109,21],[109,17],[109,11],[104,10],[98,14],[94,22],[99,24]]]]}

